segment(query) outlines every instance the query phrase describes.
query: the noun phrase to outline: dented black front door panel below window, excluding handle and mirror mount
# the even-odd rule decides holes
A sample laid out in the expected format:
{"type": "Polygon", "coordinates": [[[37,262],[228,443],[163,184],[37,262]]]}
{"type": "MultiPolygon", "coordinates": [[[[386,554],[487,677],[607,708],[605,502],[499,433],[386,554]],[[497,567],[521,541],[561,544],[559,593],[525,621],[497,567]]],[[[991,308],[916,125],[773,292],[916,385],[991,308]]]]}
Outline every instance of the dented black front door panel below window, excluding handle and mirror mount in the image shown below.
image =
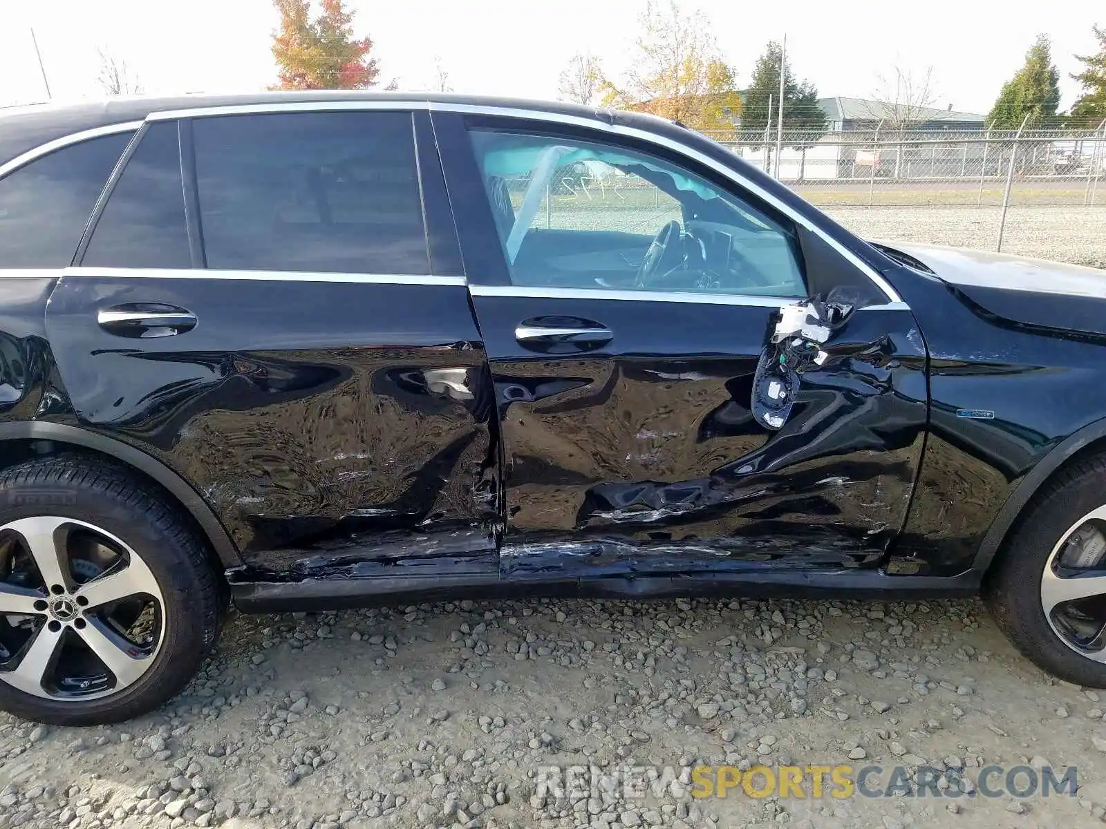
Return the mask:
{"type": "Polygon", "coordinates": [[[497,339],[544,307],[476,301],[500,401],[505,549],[873,566],[901,526],[926,424],[909,313],[857,313],[769,436],[749,409],[769,308],[543,300],[615,333],[609,351],[550,359],[497,339]]]}

